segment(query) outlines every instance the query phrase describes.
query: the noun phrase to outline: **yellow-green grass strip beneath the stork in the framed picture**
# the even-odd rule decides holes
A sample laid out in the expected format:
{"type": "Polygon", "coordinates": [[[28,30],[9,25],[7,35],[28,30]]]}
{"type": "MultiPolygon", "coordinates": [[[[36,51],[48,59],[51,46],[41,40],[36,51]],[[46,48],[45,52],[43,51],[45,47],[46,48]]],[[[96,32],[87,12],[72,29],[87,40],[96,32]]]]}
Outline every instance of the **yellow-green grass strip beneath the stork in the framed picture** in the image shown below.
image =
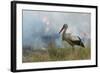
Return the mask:
{"type": "Polygon", "coordinates": [[[90,48],[48,48],[44,50],[34,50],[23,53],[22,61],[27,62],[45,62],[45,61],[65,61],[65,60],[85,60],[91,58],[90,48]]]}

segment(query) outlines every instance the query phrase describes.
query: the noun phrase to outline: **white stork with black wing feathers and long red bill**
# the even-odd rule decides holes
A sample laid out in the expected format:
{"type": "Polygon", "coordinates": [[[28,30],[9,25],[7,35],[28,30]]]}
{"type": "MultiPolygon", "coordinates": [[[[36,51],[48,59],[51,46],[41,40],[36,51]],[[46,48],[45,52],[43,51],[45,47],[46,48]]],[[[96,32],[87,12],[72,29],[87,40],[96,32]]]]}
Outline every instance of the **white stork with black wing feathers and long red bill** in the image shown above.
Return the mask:
{"type": "Polygon", "coordinates": [[[61,33],[63,31],[62,40],[68,42],[72,46],[73,49],[74,49],[74,45],[85,47],[79,36],[72,36],[66,33],[67,28],[68,28],[68,25],[64,24],[62,29],[59,32],[61,33]]]}

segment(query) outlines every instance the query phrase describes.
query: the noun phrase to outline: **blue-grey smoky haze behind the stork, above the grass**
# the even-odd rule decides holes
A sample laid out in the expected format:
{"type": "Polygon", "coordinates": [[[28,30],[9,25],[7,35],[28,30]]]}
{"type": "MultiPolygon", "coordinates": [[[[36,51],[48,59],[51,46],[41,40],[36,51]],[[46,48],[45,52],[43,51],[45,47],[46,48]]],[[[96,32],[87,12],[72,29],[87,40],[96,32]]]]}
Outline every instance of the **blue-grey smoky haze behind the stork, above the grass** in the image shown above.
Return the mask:
{"type": "Polygon", "coordinates": [[[56,47],[61,48],[63,45],[59,31],[63,24],[68,25],[66,33],[80,36],[85,43],[90,44],[90,16],[90,13],[23,10],[22,44],[44,48],[53,38],[56,47]]]}

